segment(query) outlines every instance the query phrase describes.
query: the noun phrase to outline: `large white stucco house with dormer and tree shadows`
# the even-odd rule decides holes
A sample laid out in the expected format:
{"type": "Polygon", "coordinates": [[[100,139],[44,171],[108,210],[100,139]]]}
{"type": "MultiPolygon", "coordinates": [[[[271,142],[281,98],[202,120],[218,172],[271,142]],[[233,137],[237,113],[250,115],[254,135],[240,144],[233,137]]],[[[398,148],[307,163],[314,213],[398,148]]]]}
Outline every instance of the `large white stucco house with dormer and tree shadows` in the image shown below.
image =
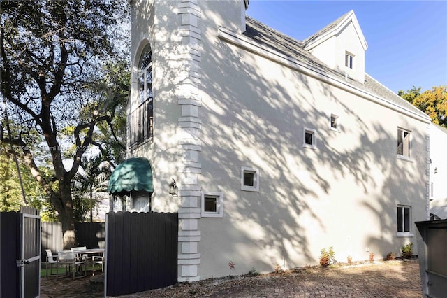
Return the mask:
{"type": "Polygon", "coordinates": [[[179,213],[179,281],[416,241],[430,118],[365,72],[353,11],[297,41],[248,1],[129,3],[128,157],[152,175],[129,192],[140,211],[179,213]]]}

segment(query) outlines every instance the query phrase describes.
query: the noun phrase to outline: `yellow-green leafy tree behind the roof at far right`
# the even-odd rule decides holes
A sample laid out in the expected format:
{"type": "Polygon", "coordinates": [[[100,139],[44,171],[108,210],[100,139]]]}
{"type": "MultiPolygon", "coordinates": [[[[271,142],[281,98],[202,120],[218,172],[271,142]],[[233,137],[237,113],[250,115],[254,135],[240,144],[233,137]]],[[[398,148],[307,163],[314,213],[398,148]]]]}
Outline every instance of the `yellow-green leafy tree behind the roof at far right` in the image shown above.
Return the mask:
{"type": "Polygon", "coordinates": [[[420,87],[413,86],[411,90],[406,90],[406,92],[400,90],[397,94],[429,115],[433,123],[447,127],[447,85],[433,87],[432,90],[422,93],[420,93],[420,87]]]}

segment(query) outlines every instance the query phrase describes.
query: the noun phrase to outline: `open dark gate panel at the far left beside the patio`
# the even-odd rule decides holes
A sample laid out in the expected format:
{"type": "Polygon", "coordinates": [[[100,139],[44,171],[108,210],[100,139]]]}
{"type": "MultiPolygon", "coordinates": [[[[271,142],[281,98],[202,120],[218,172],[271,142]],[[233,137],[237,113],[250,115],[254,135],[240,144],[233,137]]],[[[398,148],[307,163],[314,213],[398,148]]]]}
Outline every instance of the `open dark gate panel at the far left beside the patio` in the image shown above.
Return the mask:
{"type": "Polygon", "coordinates": [[[36,209],[0,214],[0,251],[0,297],[38,297],[41,218],[36,209]]]}

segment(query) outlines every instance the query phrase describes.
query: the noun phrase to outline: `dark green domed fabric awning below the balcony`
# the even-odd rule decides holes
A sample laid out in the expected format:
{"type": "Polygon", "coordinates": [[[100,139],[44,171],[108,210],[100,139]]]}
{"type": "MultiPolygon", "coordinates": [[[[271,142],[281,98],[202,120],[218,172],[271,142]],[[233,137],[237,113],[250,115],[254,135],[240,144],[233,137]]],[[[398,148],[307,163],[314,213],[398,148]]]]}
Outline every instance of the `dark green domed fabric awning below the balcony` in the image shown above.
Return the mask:
{"type": "Polygon", "coordinates": [[[109,194],[126,194],[132,190],[154,192],[152,169],[145,157],[132,157],[117,166],[109,180],[109,194]]]}

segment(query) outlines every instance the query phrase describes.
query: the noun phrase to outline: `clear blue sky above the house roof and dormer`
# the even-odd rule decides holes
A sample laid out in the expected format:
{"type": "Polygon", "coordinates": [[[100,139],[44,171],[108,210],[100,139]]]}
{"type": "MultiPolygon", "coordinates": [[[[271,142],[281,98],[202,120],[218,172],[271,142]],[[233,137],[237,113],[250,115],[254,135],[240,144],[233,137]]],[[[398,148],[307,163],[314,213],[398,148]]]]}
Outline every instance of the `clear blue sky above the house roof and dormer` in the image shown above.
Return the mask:
{"type": "Polygon", "coordinates": [[[397,93],[447,85],[447,1],[251,0],[247,15],[302,41],[354,10],[365,71],[397,93]]]}

